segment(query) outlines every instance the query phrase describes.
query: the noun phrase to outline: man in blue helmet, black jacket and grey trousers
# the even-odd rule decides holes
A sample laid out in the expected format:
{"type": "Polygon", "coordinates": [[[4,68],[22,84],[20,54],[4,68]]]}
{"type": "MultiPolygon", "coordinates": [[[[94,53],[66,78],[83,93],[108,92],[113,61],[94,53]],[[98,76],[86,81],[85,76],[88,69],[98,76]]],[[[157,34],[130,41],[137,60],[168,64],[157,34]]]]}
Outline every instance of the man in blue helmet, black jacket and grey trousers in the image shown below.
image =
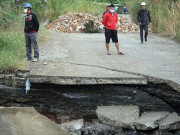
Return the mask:
{"type": "Polygon", "coordinates": [[[39,30],[39,21],[37,15],[31,11],[32,5],[26,3],[24,5],[25,16],[25,40],[26,40],[26,60],[32,60],[32,46],[34,49],[34,59],[33,62],[39,61],[39,47],[37,44],[37,34],[39,30]]]}

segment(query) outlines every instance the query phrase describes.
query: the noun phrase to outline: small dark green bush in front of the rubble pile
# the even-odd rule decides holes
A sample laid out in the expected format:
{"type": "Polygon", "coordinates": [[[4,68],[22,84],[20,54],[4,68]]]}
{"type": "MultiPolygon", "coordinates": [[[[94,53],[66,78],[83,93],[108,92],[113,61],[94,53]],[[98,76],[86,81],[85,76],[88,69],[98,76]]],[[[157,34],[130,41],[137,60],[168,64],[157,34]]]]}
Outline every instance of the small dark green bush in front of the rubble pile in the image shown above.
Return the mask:
{"type": "Polygon", "coordinates": [[[83,29],[84,33],[100,33],[100,29],[95,28],[94,22],[92,20],[89,20],[88,23],[84,24],[85,28],[83,29]]]}

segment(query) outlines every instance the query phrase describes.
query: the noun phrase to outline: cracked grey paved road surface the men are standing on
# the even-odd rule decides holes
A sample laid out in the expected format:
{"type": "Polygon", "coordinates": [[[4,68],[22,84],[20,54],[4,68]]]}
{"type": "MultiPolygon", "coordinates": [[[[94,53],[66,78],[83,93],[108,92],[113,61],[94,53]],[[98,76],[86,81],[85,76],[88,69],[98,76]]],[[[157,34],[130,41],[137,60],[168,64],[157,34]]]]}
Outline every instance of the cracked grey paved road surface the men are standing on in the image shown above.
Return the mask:
{"type": "Polygon", "coordinates": [[[94,78],[141,78],[126,72],[140,73],[180,84],[180,44],[149,35],[140,44],[139,34],[119,34],[121,51],[106,55],[104,34],[69,34],[52,32],[40,46],[40,61],[31,63],[32,75],[94,78]],[[43,65],[47,62],[47,65],[43,65]],[[119,72],[126,71],[126,72],[119,72]]]}

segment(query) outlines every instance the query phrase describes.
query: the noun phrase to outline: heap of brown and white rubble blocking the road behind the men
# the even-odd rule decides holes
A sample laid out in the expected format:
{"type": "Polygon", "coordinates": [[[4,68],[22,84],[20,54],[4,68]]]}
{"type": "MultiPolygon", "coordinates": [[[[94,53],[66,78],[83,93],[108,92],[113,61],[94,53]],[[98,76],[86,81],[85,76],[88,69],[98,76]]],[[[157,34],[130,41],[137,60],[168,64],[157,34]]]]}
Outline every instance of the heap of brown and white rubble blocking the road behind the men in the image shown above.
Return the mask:
{"type": "MultiPolygon", "coordinates": [[[[68,13],[59,16],[47,26],[47,29],[64,33],[83,33],[84,24],[89,20],[93,20],[95,27],[103,31],[102,16],[93,16],[87,13],[68,13]]],[[[119,33],[137,33],[139,26],[128,18],[118,15],[117,30],[119,33]]]]}

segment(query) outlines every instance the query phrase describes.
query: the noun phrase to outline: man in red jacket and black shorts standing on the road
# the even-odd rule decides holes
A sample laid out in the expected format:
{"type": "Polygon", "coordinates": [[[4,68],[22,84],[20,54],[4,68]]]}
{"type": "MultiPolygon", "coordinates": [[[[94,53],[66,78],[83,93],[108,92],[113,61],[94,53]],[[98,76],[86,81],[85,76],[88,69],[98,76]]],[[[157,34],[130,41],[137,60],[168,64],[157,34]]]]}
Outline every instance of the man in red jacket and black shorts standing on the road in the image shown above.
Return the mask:
{"type": "Polygon", "coordinates": [[[118,52],[118,55],[124,55],[122,52],[120,52],[119,43],[118,43],[118,36],[117,36],[117,21],[118,16],[115,13],[114,5],[110,5],[110,10],[104,15],[102,24],[105,26],[105,37],[106,37],[106,49],[107,49],[107,55],[111,55],[109,52],[109,43],[110,39],[112,38],[112,41],[115,42],[115,46],[118,52]]]}

